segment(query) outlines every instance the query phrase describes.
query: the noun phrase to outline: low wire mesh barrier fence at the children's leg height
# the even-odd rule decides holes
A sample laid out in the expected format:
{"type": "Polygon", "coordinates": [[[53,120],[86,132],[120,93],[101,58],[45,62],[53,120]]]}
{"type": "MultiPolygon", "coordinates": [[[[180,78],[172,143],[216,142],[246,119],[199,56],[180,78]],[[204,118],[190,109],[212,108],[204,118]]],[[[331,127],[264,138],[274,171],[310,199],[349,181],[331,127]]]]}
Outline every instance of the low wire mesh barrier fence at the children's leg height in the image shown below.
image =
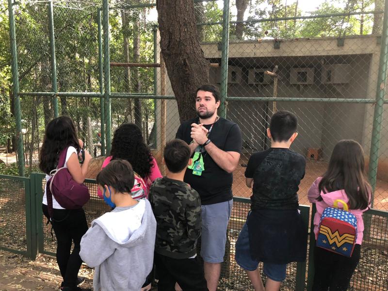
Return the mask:
{"type": "MultiPolygon", "coordinates": [[[[36,253],[53,255],[55,236],[51,237],[47,219],[42,214],[42,196],[46,185],[42,174],[32,174],[30,178],[0,177],[0,248],[22,253],[34,258],[36,253]]],[[[91,199],[84,210],[88,224],[110,208],[97,197],[94,180],[86,180],[91,199]]],[[[300,206],[301,214],[308,231],[310,208],[300,206]]],[[[237,265],[235,244],[239,232],[250,210],[250,200],[234,198],[232,215],[227,229],[225,262],[222,265],[219,288],[221,290],[253,290],[246,273],[237,265]]],[[[312,215],[315,210],[313,208],[312,215]]],[[[368,210],[364,214],[365,230],[361,247],[360,262],[352,277],[350,290],[387,290],[388,288],[388,212],[368,210]]],[[[286,280],[281,290],[310,290],[313,274],[313,250],[315,236],[310,225],[306,263],[291,263],[287,266],[286,280]]],[[[262,264],[259,266],[262,270],[262,264]]]]}

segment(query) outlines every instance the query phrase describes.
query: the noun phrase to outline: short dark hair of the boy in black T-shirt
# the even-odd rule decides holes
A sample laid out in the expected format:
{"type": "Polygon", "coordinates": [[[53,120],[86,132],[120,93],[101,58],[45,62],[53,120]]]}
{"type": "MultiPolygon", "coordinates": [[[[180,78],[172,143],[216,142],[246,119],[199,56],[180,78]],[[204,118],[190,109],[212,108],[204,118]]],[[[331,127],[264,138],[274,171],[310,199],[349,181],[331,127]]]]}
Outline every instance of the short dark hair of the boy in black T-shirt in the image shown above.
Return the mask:
{"type": "Polygon", "coordinates": [[[286,142],[298,127],[298,118],[292,112],[279,110],[270,121],[270,131],[274,142],[286,142]]]}

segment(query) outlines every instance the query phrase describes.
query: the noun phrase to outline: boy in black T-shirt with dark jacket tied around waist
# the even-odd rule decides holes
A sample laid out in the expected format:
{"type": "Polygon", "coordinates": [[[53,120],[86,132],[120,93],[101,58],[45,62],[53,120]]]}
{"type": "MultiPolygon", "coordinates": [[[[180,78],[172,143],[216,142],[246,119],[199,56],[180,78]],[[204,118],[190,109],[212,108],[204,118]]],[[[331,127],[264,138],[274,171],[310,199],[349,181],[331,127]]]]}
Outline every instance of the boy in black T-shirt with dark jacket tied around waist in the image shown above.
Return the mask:
{"type": "Polygon", "coordinates": [[[245,170],[246,185],[253,194],[251,211],[236,242],[236,261],[256,291],[264,291],[260,261],[267,276],[265,290],[278,291],[287,264],[306,260],[307,231],[298,211],[298,186],[306,160],[290,149],[297,125],[295,114],[276,112],[267,129],[271,147],[254,153],[245,170]]]}

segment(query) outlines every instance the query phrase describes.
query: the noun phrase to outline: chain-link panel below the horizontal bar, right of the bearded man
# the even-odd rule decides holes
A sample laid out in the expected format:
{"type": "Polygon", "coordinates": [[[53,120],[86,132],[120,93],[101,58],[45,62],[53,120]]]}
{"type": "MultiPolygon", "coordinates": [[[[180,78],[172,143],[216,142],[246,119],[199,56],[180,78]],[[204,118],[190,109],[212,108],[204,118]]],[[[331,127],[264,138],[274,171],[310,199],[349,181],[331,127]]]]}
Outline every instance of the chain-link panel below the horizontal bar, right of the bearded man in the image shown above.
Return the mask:
{"type": "MultiPolygon", "coordinates": [[[[252,153],[271,146],[266,129],[273,114],[273,101],[227,102],[227,118],[236,122],[242,130],[242,155],[233,176],[233,194],[249,197],[245,186],[244,171],[252,153]]],[[[290,99],[291,100],[291,99],[290,99]]],[[[372,121],[364,119],[371,104],[329,102],[276,102],[277,110],[289,110],[298,117],[298,136],[291,149],[307,158],[306,175],[299,186],[299,202],[308,204],[307,190],[312,182],[323,175],[331,152],[341,139],[353,139],[363,144],[363,137],[372,121]]],[[[380,185],[380,182],[378,182],[380,185]]],[[[377,204],[376,204],[376,207],[377,204]]]]}

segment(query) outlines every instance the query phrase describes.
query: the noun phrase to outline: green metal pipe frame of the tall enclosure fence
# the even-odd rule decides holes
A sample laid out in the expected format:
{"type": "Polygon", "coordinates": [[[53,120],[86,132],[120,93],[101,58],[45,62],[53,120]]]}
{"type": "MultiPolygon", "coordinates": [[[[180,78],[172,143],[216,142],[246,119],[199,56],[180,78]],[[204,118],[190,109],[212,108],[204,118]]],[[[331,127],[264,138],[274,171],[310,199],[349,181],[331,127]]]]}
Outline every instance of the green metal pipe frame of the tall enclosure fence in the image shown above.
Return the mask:
{"type": "MultiPolygon", "coordinates": [[[[213,1],[213,0],[206,0],[213,1]]],[[[194,0],[194,2],[203,2],[202,0],[194,0]]],[[[47,96],[54,97],[54,116],[58,116],[58,97],[99,97],[100,98],[100,120],[101,120],[101,154],[104,155],[110,151],[112,140],[112,124],[111,124],[111,98],[114,97],[126,97],[126,98],[151,98],[151,99],[175,99],[174,96],[157,96],[157,82],[154,78],[154,94],[153,95],[139,95],[131,93],[111,93],[111,75],[110,75],[110,51],[109,51],[109,10],[114,7],[109,7],[108,0],[102,0],[102,6],[97,8],[97,24],[98,24],[98,68],[99,68],[99,89],[100,92],[57,92],[57,80],[56,80],[56,59],[55,59],[55,30],[53,24],[53,7],[52,0],[49,3],[49,38],[50,38],[50,57],[51,57],[51,84],[52,92],[20,92],[19,80],[18,80],[18,65],[17,65],[17,48],[16,48],[16,25],[14,8],[18,5],[16,0],[8,0],[8,12],[9,12],[9,25],[10,25],[10,43],[11,43],[11,56],[12,56],[12,80],[13,80],[13,93],[15,96],[15,119],[16,119],[16,138],[17,138],[17,155],[18,157],[24,156],[23,149],[23,135],[21,131],[21,110],[20,110],[20,97],[21,96],[47,96]],[[101,11],[102,11],[102,23],[101,23],[101,11]],[[102,29],[102,31],[101,31],[102,29]]],[[[125,5],[126,9],[139,8],[139,7],[154,7],[155,3],[138,4],[138,5],[125,5]]],[[[228,70],[228,49],[229,49],[229,24],[238,23],[238,21],[229,20],[229,0],[224,0],[223,6],[223,21],[222,22],[209,22],[198,23],[198,25],[213,25],[222,24],[222,42],[221,42],[221,106],[220,115],[226,116],[226,101],[228,100],[244,100],[244,97],[229,97],[227,95],[227,70],[228,70]]],[[[386,94],[386,81],[387,81],[387,68],[388,68],[388,0],[385,0],[385,8],[383,11],[369,11],[361,13],[344,13],[335,15],[320,15],[320,16],[298,16],[298,17],[283,17],[278,20],[296,20],[306,18],[318,18],[329,16],[349,16],[358,14],[381,14],[384,13],[383,19],[383,33],[381,37],[381,50],[380,50],[380,64],[378,71],[378,81],[376,97],[374,99],[316,99],[316,98],[260,98],[249,97],[250,101],[320,101],[320,102],[353,102],[356,101],[364,103],[373,103],[374,117],[372,128],[372,141],[370,150],[370,167],[369,167],[369,179],[372,184],[373,193],[376,185],[377,177],[377,164],[379,158],[380,139],[381,139],[381,124],[383,116],[383,105],[388,103],[385,100],[386,94]]],[[[272,21],[273,19],[258,19],[250,21],[242,21],[243,23],[250,22],[265,22],[272,21]]],[[[343,35],[341,36],[344,37],[343,35]]],[[[154,28],[154,40],[156,40],[156,28],[154,28]]],[[[154,57],[156,58],[156,41],[154,41],[154,57]]],[[[156,76],[156,68],[154,69],[154,76],[156,76]]],[[[156,130],[155,130],[156,132],[156,130]]],[[[19,176],[25,175],[24,159],[18,159],[19,176]]]]}

